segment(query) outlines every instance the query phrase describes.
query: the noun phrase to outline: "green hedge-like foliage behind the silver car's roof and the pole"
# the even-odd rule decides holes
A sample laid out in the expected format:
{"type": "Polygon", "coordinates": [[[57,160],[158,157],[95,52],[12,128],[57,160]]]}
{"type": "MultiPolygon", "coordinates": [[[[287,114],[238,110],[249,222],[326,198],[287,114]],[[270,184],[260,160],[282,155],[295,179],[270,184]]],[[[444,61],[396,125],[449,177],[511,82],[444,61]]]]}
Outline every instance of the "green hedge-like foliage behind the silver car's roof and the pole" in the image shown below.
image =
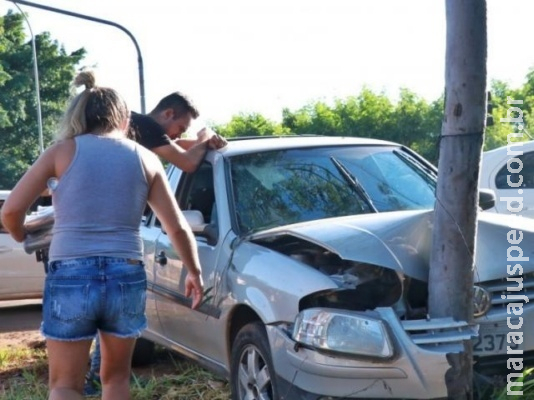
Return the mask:
{"type": "MultiPolygon", "coordinates": [[[[516,105],[523,112],[523,132],[534,124],[534,69],[522,88],[511,89],[504,82],[493,81],[490,91],[495,123],[486,127],[484,150],[505,145],[507,136],[518,132],[517,124],[501,122],[514,106],[508,97],[523,100],[516,105]]],[[[216,130],[226,137],[286,134],[370,137],[404,144],[437,164],[443,108],[443,96],[427,102],[409,89],[401,89],[398,101],[393,102],[383,93],[364,88],[357,96],[337,99],[331,105],[317,101],[296,111],[284,109],[280,124],[259,114],[239,115],[216,130]]],[[[521,140],[530,139],[525,134],[521,140]]]]}

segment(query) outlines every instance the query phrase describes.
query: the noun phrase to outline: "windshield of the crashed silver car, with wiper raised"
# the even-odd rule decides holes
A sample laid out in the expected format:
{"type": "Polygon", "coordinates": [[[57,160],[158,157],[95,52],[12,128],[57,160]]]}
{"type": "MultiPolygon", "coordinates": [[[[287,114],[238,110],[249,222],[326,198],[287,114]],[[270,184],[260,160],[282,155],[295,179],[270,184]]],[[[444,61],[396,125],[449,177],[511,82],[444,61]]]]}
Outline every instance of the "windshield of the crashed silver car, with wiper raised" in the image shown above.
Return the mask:
{"type": "Polygon", "coordinates": [[[242,234],[322,218],[430,209],[430,172],[394,146],[291,149],[230,160],[242,234]]]}

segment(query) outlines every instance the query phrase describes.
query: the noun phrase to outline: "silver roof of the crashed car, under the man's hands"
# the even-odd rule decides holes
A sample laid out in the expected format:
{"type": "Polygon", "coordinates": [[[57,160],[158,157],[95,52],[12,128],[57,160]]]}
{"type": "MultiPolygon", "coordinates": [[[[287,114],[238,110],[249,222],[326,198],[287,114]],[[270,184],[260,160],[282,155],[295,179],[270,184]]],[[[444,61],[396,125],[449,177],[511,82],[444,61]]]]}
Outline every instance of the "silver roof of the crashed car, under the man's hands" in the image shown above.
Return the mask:
{"type": "Polygon", "coordinates": [[[287,136],[251,136],[231,138],[228,146],[221,149],[224,156],[234,156],[238,154],[255,153],[258,150],[284,150],[294,148],[310,148],[323,146],[400,146],[398,143],[385,140],[344,137],[344,136],[315,136],[315,135],[287,135],[287,136]]]}

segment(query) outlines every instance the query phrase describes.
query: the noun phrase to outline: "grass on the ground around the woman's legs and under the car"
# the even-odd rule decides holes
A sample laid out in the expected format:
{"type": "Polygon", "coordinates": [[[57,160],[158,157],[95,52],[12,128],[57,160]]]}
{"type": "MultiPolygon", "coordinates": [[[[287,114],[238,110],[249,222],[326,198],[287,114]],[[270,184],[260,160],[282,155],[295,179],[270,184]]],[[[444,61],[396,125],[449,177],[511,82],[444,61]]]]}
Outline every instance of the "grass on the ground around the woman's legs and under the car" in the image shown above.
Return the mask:
{"type": "MultiPolygon", "coordinates": [[[[46,400],[48,364],[44,342],[0,349],[0,399],[46,400]]],[[[175,353],[157,349],[154,362],[134,368],[133,400],[228,400],[229,385],[175,353]]],[[[91,397],[99,400],[100,397],[91,397]]]]}

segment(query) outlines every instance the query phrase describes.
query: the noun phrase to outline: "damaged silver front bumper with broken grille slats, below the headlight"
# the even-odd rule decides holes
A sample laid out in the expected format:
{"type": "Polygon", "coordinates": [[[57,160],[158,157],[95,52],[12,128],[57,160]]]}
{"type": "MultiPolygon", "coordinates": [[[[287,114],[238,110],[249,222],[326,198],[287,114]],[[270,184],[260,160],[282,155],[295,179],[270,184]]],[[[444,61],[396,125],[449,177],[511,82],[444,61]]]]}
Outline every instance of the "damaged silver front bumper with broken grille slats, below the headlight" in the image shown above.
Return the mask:
{"type": "Polygon", "coordinates": [[[448,353],[463,351],[476,327],[450,318],[400,321],[391,308],[362,313],[391,333],[391,359],[349,357],[299,346],[287,331],[267,326],[282,399],[417,398],[447,396],[448,353]]]}

